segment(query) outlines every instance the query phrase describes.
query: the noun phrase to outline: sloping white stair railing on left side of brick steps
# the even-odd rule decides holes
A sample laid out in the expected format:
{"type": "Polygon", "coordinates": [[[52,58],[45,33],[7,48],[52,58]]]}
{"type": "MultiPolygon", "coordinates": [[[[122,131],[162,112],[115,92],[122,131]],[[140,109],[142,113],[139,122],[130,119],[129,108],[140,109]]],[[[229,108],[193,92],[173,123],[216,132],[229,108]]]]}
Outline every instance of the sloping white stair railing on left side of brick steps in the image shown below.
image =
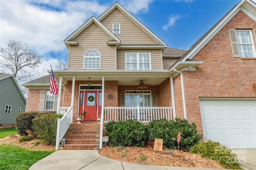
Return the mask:
{"type": "MultiPolygon", "coordinates": [[[[60,107],[60,110],[64,110],[62,108],[63,107],[60,107]]],[[[60,111],[60,114],[61,114],[61,111],[60,111]]],[[[72,118],[73,118],[73,106],[69,107],[69,109],[66,111],[66,113],[61,119],[58,118],[55,150],[58,150],[60,141],[62,140],[70,124],[72,123],[72,118]]]]}

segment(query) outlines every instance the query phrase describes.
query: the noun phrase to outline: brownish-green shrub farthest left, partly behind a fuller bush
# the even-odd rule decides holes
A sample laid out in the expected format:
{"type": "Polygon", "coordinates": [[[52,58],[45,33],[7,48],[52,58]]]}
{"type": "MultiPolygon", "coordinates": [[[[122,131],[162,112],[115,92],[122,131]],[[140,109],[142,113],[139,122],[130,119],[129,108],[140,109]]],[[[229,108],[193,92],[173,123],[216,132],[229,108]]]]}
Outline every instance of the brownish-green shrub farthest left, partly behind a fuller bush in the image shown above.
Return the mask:
{"type": "Polygon", "coordinates": [[[56,111],[45,111],[45,112],[30,111],[30,112],[19,113],[15,118],[15,126],[17,128],[18,134],[22,136],[28,136],[28,132],[30,132],[31,135],[36,137],[36,134],[34,133],[34,129],[33,129],[32,120],[37,115],[40,116],[40,115],[53,114],[53,113],[56,113],[56,111]]]}

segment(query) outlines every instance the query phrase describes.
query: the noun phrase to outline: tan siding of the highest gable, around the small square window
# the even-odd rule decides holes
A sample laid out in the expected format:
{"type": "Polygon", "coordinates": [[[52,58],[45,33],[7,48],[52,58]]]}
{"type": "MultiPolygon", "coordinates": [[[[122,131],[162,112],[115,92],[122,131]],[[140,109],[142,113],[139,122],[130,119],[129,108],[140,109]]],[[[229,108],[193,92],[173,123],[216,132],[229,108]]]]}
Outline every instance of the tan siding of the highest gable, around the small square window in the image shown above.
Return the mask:
{"type": "Polygon", "coordinates": [[[120,39],[121,44],[157,44],[142,29],[135,25],[118,9],[113,10],[101,23],[113,32],[113,23],[120,23],[120,35],[116,35],[120,39]]]}

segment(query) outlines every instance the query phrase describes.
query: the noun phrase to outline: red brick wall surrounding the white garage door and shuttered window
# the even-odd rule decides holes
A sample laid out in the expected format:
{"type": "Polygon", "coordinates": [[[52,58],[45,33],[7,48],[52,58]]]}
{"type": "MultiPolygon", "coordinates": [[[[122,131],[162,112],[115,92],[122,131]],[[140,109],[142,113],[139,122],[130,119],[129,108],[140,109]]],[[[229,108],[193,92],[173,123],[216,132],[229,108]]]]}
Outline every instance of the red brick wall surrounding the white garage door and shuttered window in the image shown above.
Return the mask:
{"type": "MultiPolygon", "coordinates": [[[[256,22],[238,12],[193,58],[204,61],[196,71],[183,71],[187,119],[196,122],[202,133],[199,98],[256,97],[252,84],[256,83],[256,60],[234,58],[229,29],[256,29],[256,22]]],[[[256,45],[253,34],[254,45],[256,45]]],[[[177,115],[182,115],[180,76],[174,78],[177,115]]]]}

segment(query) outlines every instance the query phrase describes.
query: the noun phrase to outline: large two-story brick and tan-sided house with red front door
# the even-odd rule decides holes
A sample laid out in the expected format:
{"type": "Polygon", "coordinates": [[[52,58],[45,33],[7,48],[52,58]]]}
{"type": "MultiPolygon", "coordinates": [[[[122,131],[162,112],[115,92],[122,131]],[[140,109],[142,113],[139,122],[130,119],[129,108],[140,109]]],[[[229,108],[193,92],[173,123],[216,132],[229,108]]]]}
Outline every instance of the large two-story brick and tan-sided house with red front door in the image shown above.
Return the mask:
{"type": "MultiPolygon", "coordinates": [[[[70,108],[74,123],[83,110],[83,120],[102,116],[104,123],[182,117],[196,122],[205,139],[256,148],[255,37],[251,0],[239,2],[188,51],[166,47],[115,3],[64,40],[68,69],[54,70],[62,84],[57,112],[70,108]]],[[[49,83],[50,77],[23,85],[27,111],[48,108],[49,83]]]]}

